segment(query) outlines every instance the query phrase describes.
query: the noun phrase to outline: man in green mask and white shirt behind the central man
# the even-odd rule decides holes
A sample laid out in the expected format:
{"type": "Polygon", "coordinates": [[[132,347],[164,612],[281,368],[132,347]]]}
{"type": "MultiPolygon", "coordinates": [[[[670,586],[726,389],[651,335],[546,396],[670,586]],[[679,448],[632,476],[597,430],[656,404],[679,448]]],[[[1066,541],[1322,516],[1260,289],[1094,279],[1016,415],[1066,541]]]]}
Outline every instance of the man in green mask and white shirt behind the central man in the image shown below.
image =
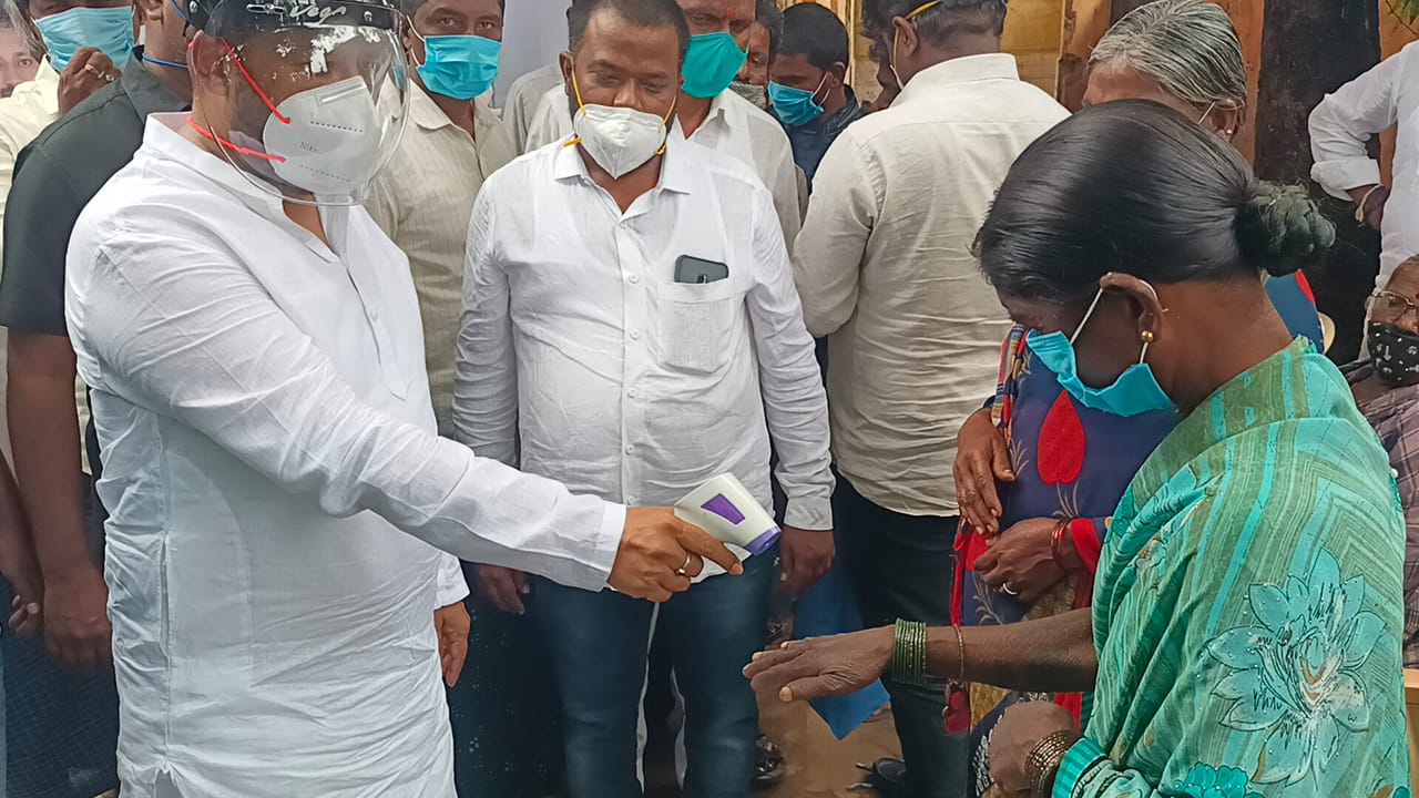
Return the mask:
{"type": "MultiPolygon", "coordinates": [[[[678,0],[690,26],[685,84],[675,102],[671,136],[732,155],[758,175],[773,195],[783,240],[789,246],[803,223],[793,148],[778,119],[735,94],[734,82],[748,58],[755,0],[678,0]],[[731,40],[734,44],[731,44],[731,40]]],[[[572,135],[570,87],[553,87],[532,115],[524,152],[572,135]]]]}

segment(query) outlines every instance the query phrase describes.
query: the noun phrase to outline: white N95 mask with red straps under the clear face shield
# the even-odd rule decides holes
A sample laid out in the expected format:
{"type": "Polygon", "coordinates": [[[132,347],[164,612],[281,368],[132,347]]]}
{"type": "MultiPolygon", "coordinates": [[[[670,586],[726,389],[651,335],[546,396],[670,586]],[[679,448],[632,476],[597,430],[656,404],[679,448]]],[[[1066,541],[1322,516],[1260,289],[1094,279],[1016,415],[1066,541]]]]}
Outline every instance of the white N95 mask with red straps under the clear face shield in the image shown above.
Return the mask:
{"type": "Polygon", "coordinates": [[[316,197],[341,197],[373,180],[383,131],[375,97],[355,77],[285,98],[261,139],[277,177],[316,197]]]}

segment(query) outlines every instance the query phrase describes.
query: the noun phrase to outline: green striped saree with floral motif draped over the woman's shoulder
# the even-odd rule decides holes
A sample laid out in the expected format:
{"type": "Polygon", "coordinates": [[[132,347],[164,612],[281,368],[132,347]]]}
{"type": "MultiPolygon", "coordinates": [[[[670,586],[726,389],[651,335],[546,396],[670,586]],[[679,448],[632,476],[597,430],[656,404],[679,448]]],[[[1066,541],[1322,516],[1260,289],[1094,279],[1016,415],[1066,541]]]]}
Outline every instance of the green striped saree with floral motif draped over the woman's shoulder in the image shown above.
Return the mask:
{"type": "Polygon", "coordinates": [[[1403,514],[1340,372],[1297,341],[1130,486],[1098,683],[1054,798],[1409,798],[1403,514]]]}

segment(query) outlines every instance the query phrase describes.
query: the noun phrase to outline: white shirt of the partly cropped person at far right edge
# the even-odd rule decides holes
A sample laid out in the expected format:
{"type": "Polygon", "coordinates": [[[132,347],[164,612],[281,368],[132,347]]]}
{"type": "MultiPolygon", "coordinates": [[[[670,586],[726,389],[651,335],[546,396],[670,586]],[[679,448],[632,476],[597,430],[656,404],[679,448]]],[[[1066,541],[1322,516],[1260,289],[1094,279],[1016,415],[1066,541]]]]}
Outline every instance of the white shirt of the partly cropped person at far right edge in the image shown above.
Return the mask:
{"type": "Polygon", "coordinates": [[[1419,43],[1325,95],[1311,112],[1311,179],[1349,202],[1349,189],[1381,183],[1369,139],[1398,124],[1393,182],[1381,224],[1379,278],[1419,254],[1419,43]]]}

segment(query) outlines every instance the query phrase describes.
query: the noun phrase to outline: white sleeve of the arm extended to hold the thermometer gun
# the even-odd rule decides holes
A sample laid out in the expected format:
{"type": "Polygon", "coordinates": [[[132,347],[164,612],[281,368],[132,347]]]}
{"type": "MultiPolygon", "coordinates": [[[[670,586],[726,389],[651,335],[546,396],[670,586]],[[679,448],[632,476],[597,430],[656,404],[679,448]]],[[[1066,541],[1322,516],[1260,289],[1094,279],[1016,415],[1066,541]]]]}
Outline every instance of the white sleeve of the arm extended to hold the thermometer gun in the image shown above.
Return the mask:
{"type": "Polygon", "coordinates": [[[70,251],[70,332],[95,390],[206,434],[331,515],[373,511],[463,559],[606,585],[623,507],[365,403],[221,244],[220,220],[149,204],[125,222],[70,251]]]}

